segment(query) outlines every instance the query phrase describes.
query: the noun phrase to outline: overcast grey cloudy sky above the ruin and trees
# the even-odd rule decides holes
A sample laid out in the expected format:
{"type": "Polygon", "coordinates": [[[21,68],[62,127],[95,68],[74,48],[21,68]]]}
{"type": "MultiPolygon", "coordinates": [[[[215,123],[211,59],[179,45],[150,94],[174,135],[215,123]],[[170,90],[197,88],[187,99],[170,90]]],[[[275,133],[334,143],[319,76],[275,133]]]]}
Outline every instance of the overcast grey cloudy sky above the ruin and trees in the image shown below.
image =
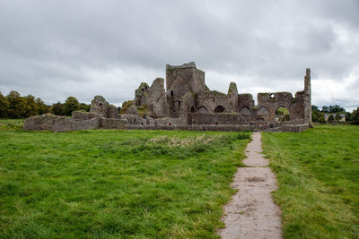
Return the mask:
{"type": "Polygon", "coordinates": [[[359,1],[0,1],[0,91],[50,104],[119,105],[165,64],[194,61],[211,90],[303,88],[312,103],[359,107],[359,1]]]}

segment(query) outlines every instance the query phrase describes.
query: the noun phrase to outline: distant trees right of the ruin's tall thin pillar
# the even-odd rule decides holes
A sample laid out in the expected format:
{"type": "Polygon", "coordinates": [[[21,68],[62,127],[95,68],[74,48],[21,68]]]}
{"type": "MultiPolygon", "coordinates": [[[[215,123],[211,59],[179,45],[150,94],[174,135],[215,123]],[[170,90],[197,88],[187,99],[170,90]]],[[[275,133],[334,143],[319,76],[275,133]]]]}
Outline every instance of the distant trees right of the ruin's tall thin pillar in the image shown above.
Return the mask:
{"type": "Polygon", "coordinates": [[[359,107],[352,113],[346,112],[346,109],[338,105],[321,107],[311,106],[311,120],[313,122],[325,123],[325,115],[328,115],[328,122],[339,122],[342,119],[341,114],[346,115],[346,122],[359,124],[359,107]],[[335,115],[335,116],[334,116],[335,115]]]}

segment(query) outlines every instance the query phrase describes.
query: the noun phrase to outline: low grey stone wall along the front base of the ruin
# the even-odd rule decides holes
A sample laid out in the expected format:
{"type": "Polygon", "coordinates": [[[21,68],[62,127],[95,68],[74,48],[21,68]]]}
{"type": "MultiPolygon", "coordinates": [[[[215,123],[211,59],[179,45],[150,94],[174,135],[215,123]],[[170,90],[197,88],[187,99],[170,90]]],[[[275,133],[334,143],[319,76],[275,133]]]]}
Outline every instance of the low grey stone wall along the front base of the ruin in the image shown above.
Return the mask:
{"type": "MultiPolygon", "coordinates": [[[[180,131],[264,131],[264,132],[302,132],[309,128],[304,124],[169,124],[169,119],[143,119],[139,115],[123,115],[121,118],[94,117],[87,120],[78,120],[86,115],[75,113],[75,118],[57,115],[38,115],[25,120],[24,130],[68,132],[88,129],[140,129],[140,130],[180,130],[180,131]],[[131,124],[136,123],[136,124],[131,124]]],[[[91,116],[91,115],[87,115],[91,116]]],[[[171,118],[171,123],[180,123],[180,119],[171,118]]]]}

